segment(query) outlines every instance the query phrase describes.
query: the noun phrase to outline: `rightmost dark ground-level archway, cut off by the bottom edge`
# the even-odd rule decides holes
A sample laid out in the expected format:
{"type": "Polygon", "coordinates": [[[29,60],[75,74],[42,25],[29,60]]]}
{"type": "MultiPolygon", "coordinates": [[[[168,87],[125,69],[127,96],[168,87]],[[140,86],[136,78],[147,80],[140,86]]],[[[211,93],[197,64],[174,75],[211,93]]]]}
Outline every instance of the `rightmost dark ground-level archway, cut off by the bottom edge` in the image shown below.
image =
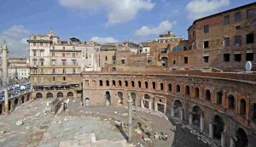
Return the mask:
{"type": "Polygon", "coordinates": [[[238,128],[236,131],[236,147],[247,147],[248,138],[247,133],[242,128],[238,128]]]}

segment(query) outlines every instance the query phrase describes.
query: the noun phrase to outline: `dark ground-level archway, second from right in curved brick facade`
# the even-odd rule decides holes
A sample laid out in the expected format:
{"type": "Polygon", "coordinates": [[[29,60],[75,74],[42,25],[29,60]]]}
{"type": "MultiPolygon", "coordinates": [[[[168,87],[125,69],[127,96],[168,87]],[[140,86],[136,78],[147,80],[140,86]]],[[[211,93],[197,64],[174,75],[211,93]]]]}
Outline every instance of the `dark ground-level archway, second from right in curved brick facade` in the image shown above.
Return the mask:
{"type": "Polygon", "coordinates": [[[214,116],[212,121],[213,139],[221,139],[221,133],[224,131],[224,120],[221,116],[214,116]]]}

